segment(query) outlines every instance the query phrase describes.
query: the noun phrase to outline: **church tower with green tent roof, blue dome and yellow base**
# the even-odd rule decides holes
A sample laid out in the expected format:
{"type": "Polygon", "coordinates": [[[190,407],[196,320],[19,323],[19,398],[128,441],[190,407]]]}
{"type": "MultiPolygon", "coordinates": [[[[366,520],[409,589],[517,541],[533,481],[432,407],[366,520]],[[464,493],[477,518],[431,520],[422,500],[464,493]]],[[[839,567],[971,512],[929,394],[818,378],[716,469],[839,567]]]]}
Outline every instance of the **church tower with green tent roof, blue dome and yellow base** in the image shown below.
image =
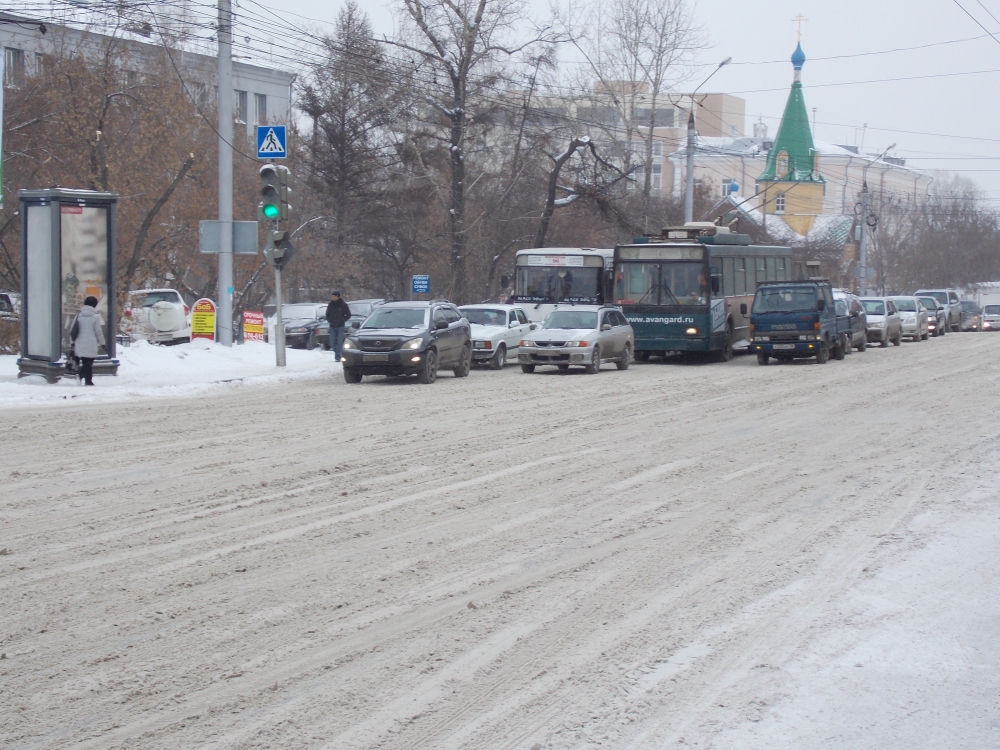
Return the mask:
{"type": "Polygon", "coordinates": [[[826,180],[819,173],[819,155],[813,144],[809,115],[802,96],[802,67],[806,56],[802,45],[795,48],[792,66],[795,80],[785,105],[778,135],[767,156],[767,167],[757,178],[760,208],[767,215],[784,219],[792,230],[806,235],[823,212],[826,180]]]}

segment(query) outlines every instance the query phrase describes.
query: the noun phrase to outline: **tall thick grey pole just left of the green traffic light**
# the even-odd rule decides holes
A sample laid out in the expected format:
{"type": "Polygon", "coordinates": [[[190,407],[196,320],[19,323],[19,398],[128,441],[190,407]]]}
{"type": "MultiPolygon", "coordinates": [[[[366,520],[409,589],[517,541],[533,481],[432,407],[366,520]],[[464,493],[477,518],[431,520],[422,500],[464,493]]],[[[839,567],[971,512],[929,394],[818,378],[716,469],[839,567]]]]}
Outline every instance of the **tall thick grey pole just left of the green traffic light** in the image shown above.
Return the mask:
{"type": "MultiPolygon", "coordinates": [[[[233,9],[219,0],[219,343],[233,345],[233,9]]],[[[279,312],[280,315],[280,312],[279,312]]],[[[284,329],[282,329],[284,332],[284,329]]],[[[282,363],[283,364],[283,363],[282,363]]]]}

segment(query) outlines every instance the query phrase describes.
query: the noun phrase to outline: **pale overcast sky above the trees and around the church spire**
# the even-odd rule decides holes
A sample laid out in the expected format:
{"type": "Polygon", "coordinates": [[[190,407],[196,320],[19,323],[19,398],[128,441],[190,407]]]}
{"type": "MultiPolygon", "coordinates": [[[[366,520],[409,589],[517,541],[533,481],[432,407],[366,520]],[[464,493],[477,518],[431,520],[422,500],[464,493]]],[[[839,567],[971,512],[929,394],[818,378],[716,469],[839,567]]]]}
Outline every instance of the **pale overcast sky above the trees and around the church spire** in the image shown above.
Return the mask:
{"type": "MultiPolygon", "coordinates": [[[[287,7],[258,2],[279,13],[287,7]]],[[[547,14],[548,0],[529,2],[539,18],[547,14]]],[[[332,21],[342,5],[343,0],[299,0],[295,12],[332,21]]],[[[392,33],[392,0],[359,5],[377,33],[392,33]]],[[[863,135],[866,149],[896,143],[893,154],[906,158],[908,166],[960,172],[1000,206],[1000,103],[994,94],[1000,82],[1000,23],[988,11],[1000,18],[1000,0],[699,0],[695,13],[709,46],[698,62],[731,56],[733,64],[706,88],[742,96],[747,131],[763,117],[774,134],[792,80],[792,19],[801,13],[809,19],[803,24],[802,47],[809,58],[803,84],[810,114],[816,108],[818,140],[860,144],[863,135]],[[934,46],[868,54],[921,45],[934,46]],[[898,80],[904,78],[911,80],[898,80]]]]}

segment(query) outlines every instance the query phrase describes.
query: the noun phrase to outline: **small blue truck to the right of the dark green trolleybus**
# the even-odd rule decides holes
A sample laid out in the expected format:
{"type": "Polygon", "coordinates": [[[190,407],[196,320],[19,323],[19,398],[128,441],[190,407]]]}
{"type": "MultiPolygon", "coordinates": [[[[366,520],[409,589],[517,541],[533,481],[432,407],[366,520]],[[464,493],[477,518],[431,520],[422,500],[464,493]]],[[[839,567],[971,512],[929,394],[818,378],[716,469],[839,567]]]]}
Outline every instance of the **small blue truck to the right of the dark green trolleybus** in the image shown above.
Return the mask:
{"type": "Polygon", "coordinates": [[[826,279],[765,282],[758,285],[750,312],[750,348],[762,365],[772,357],[815,357],[825,364],[831,353],[843,358],[840,324],[826,279]]]}

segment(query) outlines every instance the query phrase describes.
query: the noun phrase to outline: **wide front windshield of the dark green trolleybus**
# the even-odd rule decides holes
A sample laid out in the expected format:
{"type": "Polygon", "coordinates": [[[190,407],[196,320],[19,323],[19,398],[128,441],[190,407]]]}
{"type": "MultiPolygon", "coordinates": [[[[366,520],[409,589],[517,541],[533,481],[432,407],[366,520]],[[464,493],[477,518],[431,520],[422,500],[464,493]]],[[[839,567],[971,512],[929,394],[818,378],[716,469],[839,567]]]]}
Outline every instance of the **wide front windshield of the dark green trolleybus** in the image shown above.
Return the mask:
{"type": "Polygon", "coordinates": [[[706,305],[708,274],[700,262],[621,263],[615,300],[619,305],[706,305]]]}

